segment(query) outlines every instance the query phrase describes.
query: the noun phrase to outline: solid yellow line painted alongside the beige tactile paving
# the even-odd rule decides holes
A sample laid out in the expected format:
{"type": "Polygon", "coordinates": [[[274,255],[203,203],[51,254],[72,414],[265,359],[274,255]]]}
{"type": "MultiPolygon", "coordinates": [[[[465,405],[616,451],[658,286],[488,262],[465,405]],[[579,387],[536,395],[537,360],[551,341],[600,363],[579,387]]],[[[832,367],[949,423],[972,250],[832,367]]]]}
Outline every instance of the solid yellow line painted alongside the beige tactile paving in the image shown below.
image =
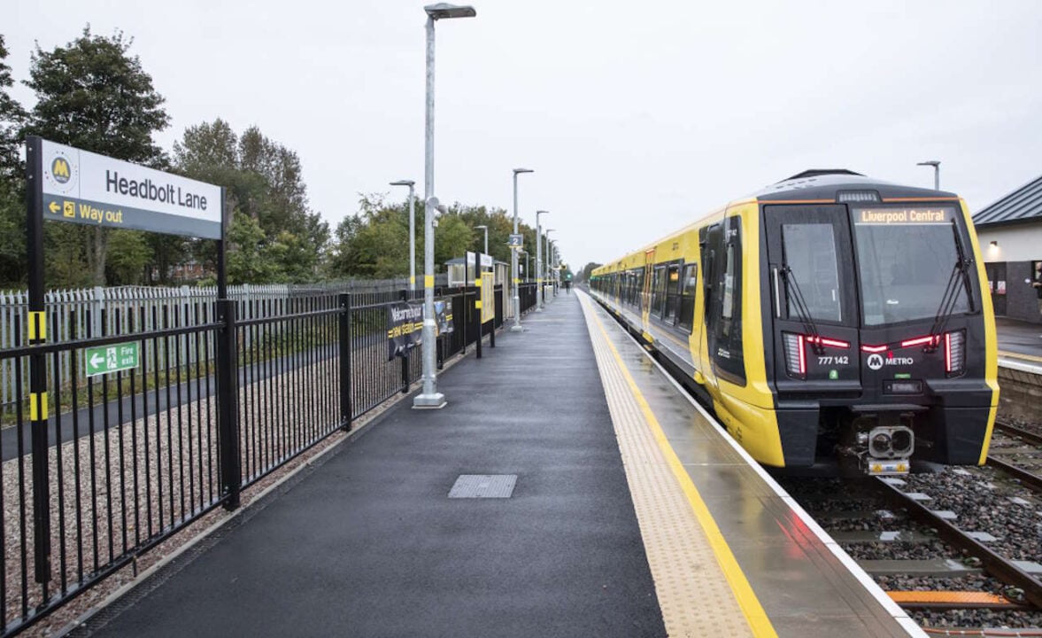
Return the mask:
{"type": "Polygon", "coordinates": [[[727,545],[727,540],[724,538],[723,533],[720,532],[720,527],[713,518],[713,514],[710,513],[710,509],[705,505],[705,501],[702,500],[702,497],[698,493],[698,489],[695,487],[695,484],[688,474],[688,471],[684,469],[684,464],[676,456],[676,451],[673,450],[673,446],[670,445],[669,439],[666,437],[666,433],[663,432],[662,425],[659,423],[659,419],[654,416],[654,412],[651,411],[651,407],[648,404],[647,399],[644,398],[644,394],[637,386],[637,382],[634,381],[632,375],[629,373],[629,369],[622,361],[619,350],[616,349],[615,344],[612,343],[612,339],[609,337],[607,330],[604,329],[604,324],[601,323],[600,318],[595,312],[592,312],[591,316],[596,322],[597,327],[600,329],[609,349],[615,357],[623,378],[625,378],[626,385],[629,387],[630,393],[637,400],[651,434],[659,443],[659,448],[665,456],[673,475],[680,484],[680,488],[684,491],[685,496],[687,496],[692,511],[698,519],[702,531],[705,533],[706,540],[709,540],[713,554],[716,556],[717,563],[720,565],[720,569],[723,571],[724,578],[727,579],[727,584],[730,586],[730,590],[735,594],[735,598],[737,599],[742,613],[745,615],[746,621],[749,623],[749,629],[752,631],[754,636],[776,637],[777,633],[774,631],[774,627],[771,624],[770,618],[767,616],[767,612],[764,611],[755,592],[752,591],[752,586],[749,585],[749,581],[742,571],[742,567],[738,564],[738,560],[735,558],[734,553],[731,553],[730,546],[727,545]]]}

